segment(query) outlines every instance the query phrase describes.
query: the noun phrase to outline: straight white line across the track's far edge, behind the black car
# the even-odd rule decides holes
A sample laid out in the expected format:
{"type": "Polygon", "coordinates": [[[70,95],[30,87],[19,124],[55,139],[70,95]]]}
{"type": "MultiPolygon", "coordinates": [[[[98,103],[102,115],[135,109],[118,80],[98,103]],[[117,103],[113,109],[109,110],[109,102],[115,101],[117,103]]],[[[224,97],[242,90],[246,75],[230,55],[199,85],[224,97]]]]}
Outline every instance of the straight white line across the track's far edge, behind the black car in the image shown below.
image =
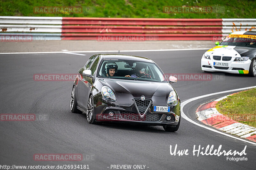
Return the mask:
{"type": "MultiPolygon", "coordinates": [[[[143,52],[143,51],[183,51],[183,50],[209,50],[210,48],[185,48],[185,49],[158,49],[158,50],[120,50],[120,52],[143,52]]],[[[105,51],[68,51],[69,53],[95,53],[95,52],[116,52],[118,50],[105,50],[105,51]]],[[[49,54],[49,53],[63,53],[63,51],[46,51],[46,52],[3,52],[0,54],[49,54]]]]}

